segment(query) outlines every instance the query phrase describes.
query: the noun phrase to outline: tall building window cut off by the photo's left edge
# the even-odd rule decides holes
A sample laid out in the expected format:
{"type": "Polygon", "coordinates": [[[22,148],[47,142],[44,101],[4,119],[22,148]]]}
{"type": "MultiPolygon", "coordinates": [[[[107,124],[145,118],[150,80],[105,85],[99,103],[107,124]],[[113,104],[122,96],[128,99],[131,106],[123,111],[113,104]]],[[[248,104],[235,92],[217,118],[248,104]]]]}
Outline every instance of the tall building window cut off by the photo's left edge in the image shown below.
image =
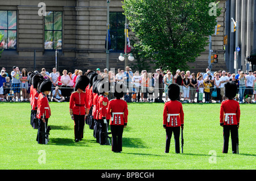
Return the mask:
{"type": "Polygon", "coordinates": [[[0,11],[0,32],[3,34],[3,40],[0,48],[16,49],[17,44],[17,12],[0,11]]]}

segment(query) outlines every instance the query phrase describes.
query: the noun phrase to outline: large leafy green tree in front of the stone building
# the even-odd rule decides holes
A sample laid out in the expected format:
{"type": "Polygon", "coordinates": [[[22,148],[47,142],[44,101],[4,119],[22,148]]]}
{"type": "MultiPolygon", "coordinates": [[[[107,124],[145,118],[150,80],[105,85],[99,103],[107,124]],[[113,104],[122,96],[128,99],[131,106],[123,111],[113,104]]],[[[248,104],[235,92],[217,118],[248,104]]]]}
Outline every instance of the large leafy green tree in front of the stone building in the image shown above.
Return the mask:
{"type": "Polygon", "coordinates": [[[123,10],[139,47],[156,67],[188,69],[208,45],[216,16],[210,15],[212,0],[125,0],[123,10]]]}

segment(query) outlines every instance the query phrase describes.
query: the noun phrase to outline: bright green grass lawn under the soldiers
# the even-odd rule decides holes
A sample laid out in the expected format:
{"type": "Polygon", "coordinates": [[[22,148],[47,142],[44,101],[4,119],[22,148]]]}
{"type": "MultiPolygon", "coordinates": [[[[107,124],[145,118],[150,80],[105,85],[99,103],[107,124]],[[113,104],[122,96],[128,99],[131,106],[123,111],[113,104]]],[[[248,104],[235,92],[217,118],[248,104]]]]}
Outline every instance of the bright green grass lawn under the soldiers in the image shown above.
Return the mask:
{"type": "Polygon", "coordinates": [[[123,151],[99,145],[85,125],[84,140],[74,141],[69,103],[49,103],[52,130],[47,145],[36,142],[37,129],[30,125],[29,103],[0,103],[0,169],[86,170],[253,170],[255,169],[255,108],[241,104],[240,154],[222,154],[220,104],[183,104],[184,153],[176,154],[174,138],[164,153],[163,103],[129,103],[128,124],[123,132],[123,151]],[[45,158],[45,159],[42,159],[45,158]]]}

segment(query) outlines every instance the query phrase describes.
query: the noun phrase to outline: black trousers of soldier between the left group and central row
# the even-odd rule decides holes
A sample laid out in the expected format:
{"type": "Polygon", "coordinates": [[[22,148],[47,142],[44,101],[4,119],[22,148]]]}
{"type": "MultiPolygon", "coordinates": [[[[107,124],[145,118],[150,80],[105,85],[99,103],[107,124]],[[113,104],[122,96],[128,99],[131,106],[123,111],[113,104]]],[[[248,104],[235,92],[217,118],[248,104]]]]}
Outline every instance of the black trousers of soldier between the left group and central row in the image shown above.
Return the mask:
{"type": "Polygon", "coordinates": [[[84,137],[84,117],[85,115],[74,115],[74,132],[75,139],[81,140],[84,137]]]}

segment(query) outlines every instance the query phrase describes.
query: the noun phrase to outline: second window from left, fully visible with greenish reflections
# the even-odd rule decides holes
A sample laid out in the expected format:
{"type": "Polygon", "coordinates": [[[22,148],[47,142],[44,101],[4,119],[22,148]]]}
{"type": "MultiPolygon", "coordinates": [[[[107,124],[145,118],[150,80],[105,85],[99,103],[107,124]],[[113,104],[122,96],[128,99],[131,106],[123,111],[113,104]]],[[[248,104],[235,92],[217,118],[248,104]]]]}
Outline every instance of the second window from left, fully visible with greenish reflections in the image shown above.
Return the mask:
{"type": "Polygon", "coordinates": [[[62,49],[62,11],[47,11],[44,16],[44,49],[62,49]]]}

